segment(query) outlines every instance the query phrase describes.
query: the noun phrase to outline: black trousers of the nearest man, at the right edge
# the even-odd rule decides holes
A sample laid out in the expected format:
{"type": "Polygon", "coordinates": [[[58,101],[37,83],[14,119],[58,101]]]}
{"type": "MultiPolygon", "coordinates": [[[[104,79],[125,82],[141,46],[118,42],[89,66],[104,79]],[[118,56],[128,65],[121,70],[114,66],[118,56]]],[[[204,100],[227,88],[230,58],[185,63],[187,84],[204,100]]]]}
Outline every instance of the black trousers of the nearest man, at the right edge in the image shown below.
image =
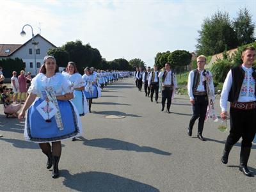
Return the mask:
{"type": "Polygon", "coordinates": [[[242,137],[242,147],[252,147],[256,132],[256,109],[241,110],[230,108],[229,145],[235,145],[242,137]]]}

